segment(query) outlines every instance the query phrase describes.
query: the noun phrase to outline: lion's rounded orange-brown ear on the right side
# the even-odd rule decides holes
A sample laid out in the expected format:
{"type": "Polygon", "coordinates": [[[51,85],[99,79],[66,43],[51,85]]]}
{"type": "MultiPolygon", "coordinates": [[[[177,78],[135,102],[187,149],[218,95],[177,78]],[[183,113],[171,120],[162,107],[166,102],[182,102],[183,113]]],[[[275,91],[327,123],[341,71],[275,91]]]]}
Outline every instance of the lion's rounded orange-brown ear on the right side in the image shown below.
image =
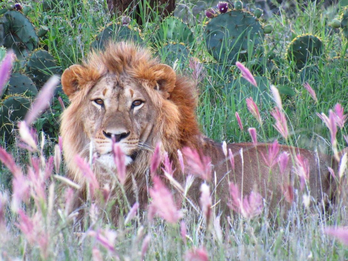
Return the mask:
{"type": "Polygon", "coordinates": [[[166,64],[157,64],[151,69],[154,72],[159,90],[163,90],[168,93],[172,92],[176,82],[176,73],[173,68],[166,64]]]}

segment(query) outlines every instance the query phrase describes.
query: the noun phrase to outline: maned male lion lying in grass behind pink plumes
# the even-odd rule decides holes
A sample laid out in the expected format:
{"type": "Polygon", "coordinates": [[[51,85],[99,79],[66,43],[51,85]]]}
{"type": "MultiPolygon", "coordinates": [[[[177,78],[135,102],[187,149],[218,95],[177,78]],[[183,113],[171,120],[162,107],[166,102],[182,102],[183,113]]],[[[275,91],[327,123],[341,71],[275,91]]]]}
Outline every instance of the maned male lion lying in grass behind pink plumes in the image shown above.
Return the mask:
{"type": "MultiPolygon", "coordinates": [[[[270,144],[232,143],[227,149],[235,155],[235,171],[227,173],[231,166],[221,143],[208,139],[199,130],[195,114],[198,95],[193,81],[152,58],[148,49],[129,42],[110,42],[104,51],[92,51],[81,65],[71,65],[61,81],[70,100],[62,114],[61,136],[67,176],[72,181],[85,185],[74,159],[75,155],[88,158],[92,144],[97,155],[93,167],[98,182],[101,185],[109,182],[110,170],[116,172],[114,139],[126,156],[127,198],[130,203],[139,200],[145,208],[150,160],[153,149],[160,143],[162,152],[166,151],[173,161],[174,178],[181,183],[185,175],[181,173],[177,150],[190,147],[211,157],[219,212],[224,212],[228,205],[229,179],[244,195],[256,185],[272,205],[284,202],[282,187],[294,179],[293,164],[287,165],[285,174],[278,167],[270,172],[260,157],[261,153],[267,155],[270,144]]],[[[327,169],[335,164],[331,156],[285,145],[281,151],[299,153],[308,160],[311,196],[318,201],[324,195],[332,199],[335,185],[327,169]]],[[[162,174],[160,167],[157,172],[162,174]]],[[[196,203],[200,184],[201,180],[195,179],[189,190],[188,196],[196,203]]]]}

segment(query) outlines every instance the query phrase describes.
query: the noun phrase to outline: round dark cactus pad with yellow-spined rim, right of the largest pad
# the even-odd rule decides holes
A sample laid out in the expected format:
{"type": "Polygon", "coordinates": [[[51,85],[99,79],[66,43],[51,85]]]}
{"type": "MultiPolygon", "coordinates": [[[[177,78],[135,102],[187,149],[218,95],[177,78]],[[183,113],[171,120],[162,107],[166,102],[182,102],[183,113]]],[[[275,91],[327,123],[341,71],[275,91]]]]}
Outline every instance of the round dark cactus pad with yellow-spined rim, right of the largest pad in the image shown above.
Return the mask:
{"type": "Polygon", "coordinates": [[[303,34],[294,38],[287,48],[287,59],[302,69],[307,61],[323,53],[323,42],[319,37],[303,34]]]}

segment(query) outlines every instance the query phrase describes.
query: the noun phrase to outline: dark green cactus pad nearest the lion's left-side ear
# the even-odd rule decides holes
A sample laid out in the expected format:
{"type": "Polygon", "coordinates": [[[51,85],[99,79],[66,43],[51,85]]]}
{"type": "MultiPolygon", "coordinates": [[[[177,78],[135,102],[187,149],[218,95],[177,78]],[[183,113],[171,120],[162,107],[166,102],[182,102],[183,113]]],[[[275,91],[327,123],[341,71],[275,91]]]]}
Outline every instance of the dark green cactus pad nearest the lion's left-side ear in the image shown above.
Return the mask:
{"type": "Polygon", "coordinates": [[[33,52],[25,65],[25,72],[29,74],[33,82],[40,87],[53,74],[59,74],[60,68],[57,67],[53,56],[45,50],[33,52]]]}

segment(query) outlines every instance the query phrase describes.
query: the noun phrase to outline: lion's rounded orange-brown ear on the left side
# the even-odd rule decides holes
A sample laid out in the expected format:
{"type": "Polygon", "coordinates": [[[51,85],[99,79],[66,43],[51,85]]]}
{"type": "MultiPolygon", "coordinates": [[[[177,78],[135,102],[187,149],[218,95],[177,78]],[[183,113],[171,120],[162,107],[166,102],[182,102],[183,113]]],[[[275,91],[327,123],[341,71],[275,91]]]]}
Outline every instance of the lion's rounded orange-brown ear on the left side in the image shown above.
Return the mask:
{"type": "Polygon", "coordinates": [[[84,77],[84,74],[86,74],[86,68],[82,65],[74,64],[68,69],[65,69],[61,81],[63,91],[68,97],[77,92],[79,89],[79,81],[84,77]]]}

